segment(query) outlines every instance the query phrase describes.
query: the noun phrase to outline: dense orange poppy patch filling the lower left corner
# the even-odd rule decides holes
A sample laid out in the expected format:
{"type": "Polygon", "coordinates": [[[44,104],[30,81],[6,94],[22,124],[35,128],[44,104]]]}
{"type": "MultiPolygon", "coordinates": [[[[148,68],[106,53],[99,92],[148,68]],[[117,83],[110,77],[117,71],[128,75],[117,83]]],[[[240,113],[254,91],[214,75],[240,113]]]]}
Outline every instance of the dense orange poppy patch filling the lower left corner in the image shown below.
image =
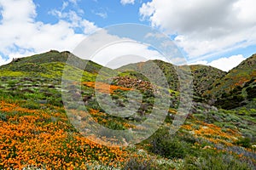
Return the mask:
{"type": "Polygon", "coordinates": [[[95,144],[75,132],[61,108],[32,110],[19,103],[1,101],[0,169],[41,167],[86,169],[100,163],[116,167],[127,152],[95,144]]]}

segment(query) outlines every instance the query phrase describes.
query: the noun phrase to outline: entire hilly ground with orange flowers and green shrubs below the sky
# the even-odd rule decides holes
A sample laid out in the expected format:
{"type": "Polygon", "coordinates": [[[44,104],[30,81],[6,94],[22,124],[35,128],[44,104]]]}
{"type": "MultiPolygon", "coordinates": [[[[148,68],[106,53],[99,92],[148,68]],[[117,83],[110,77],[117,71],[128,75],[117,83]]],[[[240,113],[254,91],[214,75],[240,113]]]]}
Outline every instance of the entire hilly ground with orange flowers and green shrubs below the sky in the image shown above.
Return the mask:
{"type": "Polygon", "coordinates": [[[171,135],[183,66],[153,60],[113,71],[55,50],[15,59],[0,67],[0,169],[255,169],[255,60],[228,73],[191,65],[193,105],[171,135]],[[154,77],[150,62],[170,89],[138,73],[154,77]]]}

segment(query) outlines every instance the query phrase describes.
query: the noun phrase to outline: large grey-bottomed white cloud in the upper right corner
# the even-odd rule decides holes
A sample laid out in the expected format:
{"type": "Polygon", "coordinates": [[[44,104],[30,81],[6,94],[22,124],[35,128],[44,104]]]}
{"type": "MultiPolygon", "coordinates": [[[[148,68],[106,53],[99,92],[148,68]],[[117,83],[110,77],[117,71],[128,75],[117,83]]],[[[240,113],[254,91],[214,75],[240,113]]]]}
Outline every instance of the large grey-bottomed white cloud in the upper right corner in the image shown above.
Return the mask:
{"type": "Polygon", "coordinates": [[[255,6],[254,0],[152,0],[143,3],[140,14],[152,26],[177,35],[175,42],[189,59],[206,59],[256,44],[255,6]]]}

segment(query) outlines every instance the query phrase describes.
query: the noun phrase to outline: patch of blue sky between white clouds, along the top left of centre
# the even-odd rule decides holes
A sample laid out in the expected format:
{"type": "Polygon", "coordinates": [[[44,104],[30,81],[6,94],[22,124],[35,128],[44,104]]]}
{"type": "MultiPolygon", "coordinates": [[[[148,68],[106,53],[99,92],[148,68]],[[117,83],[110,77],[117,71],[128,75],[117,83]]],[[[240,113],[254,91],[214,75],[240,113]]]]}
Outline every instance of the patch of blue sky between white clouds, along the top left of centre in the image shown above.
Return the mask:
{"type": "Polygon", "coordinates": [[[105,27],[114,24],[121,23],[140,23],[148,24],[147,21],[140,20],[139,8],[143,3],[148,1],[141,1],[127,3],[122,5],[119,0],[103,1],[103,0],[80,0],[80,1],[62,1],[56,0],[52,3],[48,1],[34,0],[34,3],[38,4],[38,17],[37,20],[44,21],[45,23],[56,23],[58,19],[49,14],[49,11],[53,9],[61,10],[64,2],[68,3],[67,8],[63,11],[74,10],[76,12],[79,9],[84,11],[81,14],[86,20],[94,22],[96,26],[105,27]],[[77,2],[71,3],[71,2],[77,2]]]}

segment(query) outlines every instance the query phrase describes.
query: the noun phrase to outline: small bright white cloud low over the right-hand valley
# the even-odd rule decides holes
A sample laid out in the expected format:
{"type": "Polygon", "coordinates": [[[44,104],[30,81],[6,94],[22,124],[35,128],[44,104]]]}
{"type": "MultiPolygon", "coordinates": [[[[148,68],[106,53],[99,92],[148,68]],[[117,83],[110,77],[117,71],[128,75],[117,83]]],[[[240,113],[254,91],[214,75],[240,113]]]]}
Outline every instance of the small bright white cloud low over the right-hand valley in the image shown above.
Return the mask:
{"type": "Polygon", "coordinates": [[[196,61],[195,63],[191,63],[189,65],[211,65],[222,71],[230,71],[232,68],[239,65],[241,61],[243,61],[244,59],[246,58],[243,57],[241,54],[239,54],[239,55],[232,55],[228,58],[224,57],[224,58],[212,60],[211,62],[207,62],[207,60],[200,60],[200,61],[196,61]]]}

